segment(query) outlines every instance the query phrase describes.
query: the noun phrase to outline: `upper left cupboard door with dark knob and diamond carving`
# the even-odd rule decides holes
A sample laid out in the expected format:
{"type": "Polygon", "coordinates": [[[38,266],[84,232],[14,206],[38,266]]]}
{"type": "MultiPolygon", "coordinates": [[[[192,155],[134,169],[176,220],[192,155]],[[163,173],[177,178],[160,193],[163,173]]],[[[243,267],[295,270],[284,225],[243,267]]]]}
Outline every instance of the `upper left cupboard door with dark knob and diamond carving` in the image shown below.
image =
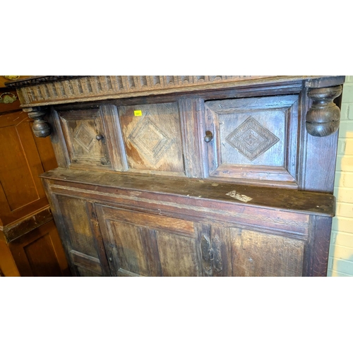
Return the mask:
{"type": "MultiPolygon", "coordinates": [[[[125,170],[121,130],[116,107],[59,111],[56,129],[64,136],[66,164],[90,169],[125,170]]],[[[62,152],[61,152],[62,154],[62,152]]],[[[58,158],[60,160],[60,158],[58,158]]]]}

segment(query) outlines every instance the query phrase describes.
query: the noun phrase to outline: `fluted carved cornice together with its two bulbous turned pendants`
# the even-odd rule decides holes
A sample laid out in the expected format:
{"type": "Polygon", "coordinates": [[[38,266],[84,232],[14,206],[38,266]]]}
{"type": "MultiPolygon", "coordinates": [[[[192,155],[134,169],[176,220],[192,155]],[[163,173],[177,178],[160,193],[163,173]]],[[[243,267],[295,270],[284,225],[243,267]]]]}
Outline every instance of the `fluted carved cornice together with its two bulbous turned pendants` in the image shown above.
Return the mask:
{"type": "MultiPolygon", "coordinates": [[[[313,102],[306,115],[307,131],[313,136],[328,136],[337,131],[340,109],[333,99],[341,94],[345,76],[33,76],[6,83],[6,87],[16,88],[21,107],[26,109],[298,81],[305,83],[313,102]]],[[[48,136],[49,125],[43,112],[37,110],[33,112],[35,133],[48,136]]]]}

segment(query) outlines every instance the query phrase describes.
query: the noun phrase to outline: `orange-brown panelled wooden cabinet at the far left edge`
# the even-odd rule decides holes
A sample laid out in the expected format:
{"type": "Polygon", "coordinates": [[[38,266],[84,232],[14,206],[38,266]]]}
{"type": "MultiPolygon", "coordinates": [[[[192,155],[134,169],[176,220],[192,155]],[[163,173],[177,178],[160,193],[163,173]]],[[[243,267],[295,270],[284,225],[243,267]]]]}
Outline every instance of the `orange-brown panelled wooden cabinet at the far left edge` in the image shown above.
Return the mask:
{"type": "Polygon", "coordinates": [[[49,140],[35,138],[16,90],[0,76],[0,275],[70,275],[42,182],[57,167],[49,140]]]}

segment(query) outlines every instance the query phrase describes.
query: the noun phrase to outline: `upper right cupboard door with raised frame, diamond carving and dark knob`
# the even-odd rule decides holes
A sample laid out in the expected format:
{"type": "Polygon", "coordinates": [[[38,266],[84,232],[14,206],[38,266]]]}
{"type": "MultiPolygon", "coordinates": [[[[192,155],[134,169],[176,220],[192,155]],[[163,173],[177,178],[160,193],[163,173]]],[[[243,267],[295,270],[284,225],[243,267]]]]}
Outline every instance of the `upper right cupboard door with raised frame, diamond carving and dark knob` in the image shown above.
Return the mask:
{"type": "Polygon", "coordinates": [[[297,187],[298,103],[297,95],[205,102],[209,176],[297,187]]]}

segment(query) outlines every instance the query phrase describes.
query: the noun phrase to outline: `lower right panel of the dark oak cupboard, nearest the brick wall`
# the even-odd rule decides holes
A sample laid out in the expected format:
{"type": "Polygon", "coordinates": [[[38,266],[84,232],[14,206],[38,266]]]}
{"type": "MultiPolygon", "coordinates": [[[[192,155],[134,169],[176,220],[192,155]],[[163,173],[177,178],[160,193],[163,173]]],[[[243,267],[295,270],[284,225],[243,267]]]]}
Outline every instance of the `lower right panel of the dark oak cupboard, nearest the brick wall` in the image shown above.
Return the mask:
{"type": "Polygon", "coordinates": [[[211,227],[213,276],[301,277],[305,239],[233,227],[211,227]]]}

